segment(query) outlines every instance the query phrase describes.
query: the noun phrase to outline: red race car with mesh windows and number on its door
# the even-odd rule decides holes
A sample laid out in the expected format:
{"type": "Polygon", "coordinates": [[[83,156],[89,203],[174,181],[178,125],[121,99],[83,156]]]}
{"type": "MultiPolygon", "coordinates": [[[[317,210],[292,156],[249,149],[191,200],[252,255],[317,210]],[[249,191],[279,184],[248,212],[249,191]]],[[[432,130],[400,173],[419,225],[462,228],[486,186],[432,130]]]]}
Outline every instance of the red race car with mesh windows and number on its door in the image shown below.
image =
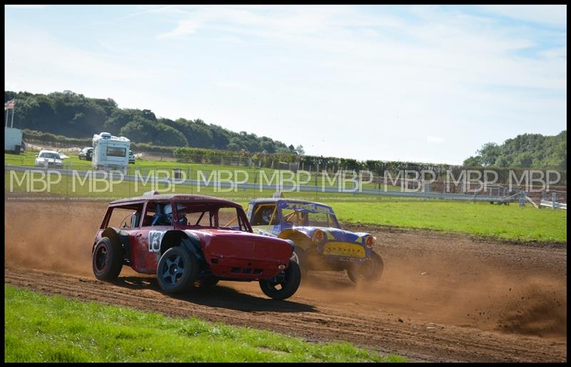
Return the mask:
{"type": "Polygon", "coordinates": [[[264,294],[286,299],[300,283],[290,262],[293,242],[253,234],[241,205],[202,195],[158,195],[109,203],[95,236],[97,279],[116,279],[123,265],[156,274],[163,291],[259,281],[264,294]]]}

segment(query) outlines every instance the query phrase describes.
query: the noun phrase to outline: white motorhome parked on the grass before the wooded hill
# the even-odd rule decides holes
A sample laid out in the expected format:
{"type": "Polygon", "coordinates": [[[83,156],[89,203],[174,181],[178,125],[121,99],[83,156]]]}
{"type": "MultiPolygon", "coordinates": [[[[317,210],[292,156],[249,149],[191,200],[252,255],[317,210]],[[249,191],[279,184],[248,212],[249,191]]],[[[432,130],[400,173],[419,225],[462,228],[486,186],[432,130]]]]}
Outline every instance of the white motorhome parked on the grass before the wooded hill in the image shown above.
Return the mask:
{"type": "Polygon", "coordinates": [[[131,140],[110,133],[95,134],[93,139],[94,155],[92,165],[94,170],[125,171],[129,164],[129,147],[131,140]]]}

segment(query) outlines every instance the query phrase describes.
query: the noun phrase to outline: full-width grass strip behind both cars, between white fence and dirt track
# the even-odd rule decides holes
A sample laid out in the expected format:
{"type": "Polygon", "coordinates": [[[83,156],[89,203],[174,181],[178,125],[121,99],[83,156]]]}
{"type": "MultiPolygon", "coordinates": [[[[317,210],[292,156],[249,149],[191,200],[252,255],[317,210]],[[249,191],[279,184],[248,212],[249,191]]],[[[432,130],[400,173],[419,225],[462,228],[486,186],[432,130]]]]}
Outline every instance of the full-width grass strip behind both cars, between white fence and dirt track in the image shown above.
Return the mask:
{"type": "MultiPolygon", "coordinates": [[[[216,166],[215,166],[216,167],[216,166]]],[[[29,197],[44,197],[45,192],[29,192],[25,183],[18,185],[23,173],[16,172],[11,177],[4,172],[6,195],[11,193],[26,194],[29,197]],[[16,178],[18,180],[16,180],[16,178]],[[10,185],[12,184],[12,187],[10,185]],[[10,191],[12,189],[12,191],[10,191]]],[[[36,177],[40,177],[36,175],[36,177]]],[[[54,177],[55,178],[55,177],[54,177]]],[[[83,178],[83,177],[82,177],[83,178]]],[[[85,185],[79,185],[78,180],[62,176],[61,182],[51,187],[49,195],[62,197],[91,197],[94,199],[114,200],[123,197],[142,195],[152,190],[151,182],[146,185],[141,182],[125,181],[113,185],[113,191],[104,190],[105,185],[96,185],[102,190],[89,190],[89,180],[85,185]],[[76,182],[74,192],[74,182],[76,182]]],[[[43,184],[36,182],[36,190],[43,184]]],[[[165,189],[165,184],[158,186],[165,189]]],[[[176,193],[201,193],[226,197],[246,206],[254,198],[271,197],[273,192],[260,190],[235,190],[218,192],[213,187],[198,187],[176,185],[176,193]]],[[[418,200],[414,198],[392,198],[378,195],[353,195],[350,193],[315,192],[285,192],[287,198],[298,198],[323,202],[331,205],[343,222],[358,222],[367,224],[383,224],[404,228],[436,229],[445,232],[461,232],[504,239],[511,241],[537,242],[567,242],[567,212],[565,210],[537,210],[530,205],[520,207],[512,205],[490,205],[487,202],[451,202],[445,200],[418,200]]]]}

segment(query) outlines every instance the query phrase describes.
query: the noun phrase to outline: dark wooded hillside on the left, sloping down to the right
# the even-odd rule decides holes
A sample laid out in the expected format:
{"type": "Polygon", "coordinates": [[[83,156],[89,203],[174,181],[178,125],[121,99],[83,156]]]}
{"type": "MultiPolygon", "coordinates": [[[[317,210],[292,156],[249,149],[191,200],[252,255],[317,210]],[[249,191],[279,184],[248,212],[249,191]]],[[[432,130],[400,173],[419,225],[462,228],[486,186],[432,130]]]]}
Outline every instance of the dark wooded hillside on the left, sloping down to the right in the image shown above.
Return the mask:
{"type": "Polygon", "coordinates": [[[14,126],[69,138],[91,138],[106,131],[135,143],[193,147],[249,153],[303,153],[266,136],[239,133],[197,118],[157,118],[151,110],[118,108],[111,98],[88,98],[71,91],[49,94],[4,92],[4,102],[16,100],[14,126]]]}

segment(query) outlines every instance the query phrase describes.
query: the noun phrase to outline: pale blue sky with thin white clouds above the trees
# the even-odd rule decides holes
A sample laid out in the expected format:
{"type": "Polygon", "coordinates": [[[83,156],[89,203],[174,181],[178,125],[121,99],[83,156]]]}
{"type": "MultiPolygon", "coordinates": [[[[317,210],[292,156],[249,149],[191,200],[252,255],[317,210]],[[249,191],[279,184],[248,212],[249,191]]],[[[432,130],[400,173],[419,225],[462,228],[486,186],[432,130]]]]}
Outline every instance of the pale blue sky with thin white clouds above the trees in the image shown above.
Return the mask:
{"type": "MultiPolygon", "coordinates": [[[[358,160],[461,164],[567,120],[567,6],[5,6],[6,91],[358,160]]],[[[16,108],[17,113],[17,108],[16,108]]]]}

